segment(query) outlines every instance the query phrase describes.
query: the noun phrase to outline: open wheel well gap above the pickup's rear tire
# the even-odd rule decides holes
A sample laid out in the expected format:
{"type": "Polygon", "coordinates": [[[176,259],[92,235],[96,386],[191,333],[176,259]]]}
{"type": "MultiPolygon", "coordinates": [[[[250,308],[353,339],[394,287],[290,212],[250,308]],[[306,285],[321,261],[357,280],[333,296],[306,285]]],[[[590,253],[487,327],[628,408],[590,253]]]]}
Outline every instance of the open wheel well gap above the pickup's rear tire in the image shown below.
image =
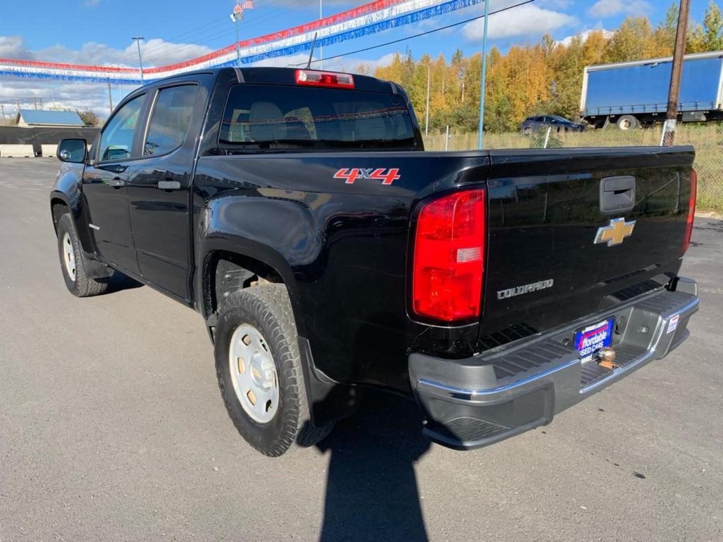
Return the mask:
{"type": "Polygon", "coordinates": [[[216,251],[206,262],[204,316],[207,319],[218,310],[223,299],[235,291],[263,282],[283,284],[281,275],[273,267],[241,254],[216,251]]]}

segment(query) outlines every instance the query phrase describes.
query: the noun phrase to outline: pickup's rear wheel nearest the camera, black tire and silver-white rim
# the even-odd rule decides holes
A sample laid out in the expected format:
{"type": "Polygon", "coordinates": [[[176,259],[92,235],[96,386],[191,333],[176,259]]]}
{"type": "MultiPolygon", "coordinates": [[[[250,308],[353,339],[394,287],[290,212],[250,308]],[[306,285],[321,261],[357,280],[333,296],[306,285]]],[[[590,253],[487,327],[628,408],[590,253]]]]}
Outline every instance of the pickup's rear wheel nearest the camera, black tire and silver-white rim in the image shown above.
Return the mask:
{"type": "Polygon", "coordinates": [[[317,428],[301,369],[294,313],[283,284],[252,286],[223,303],[215,332],[218,387],[241,436],[264,455],[308,447],[329,434],[317,428]]]}

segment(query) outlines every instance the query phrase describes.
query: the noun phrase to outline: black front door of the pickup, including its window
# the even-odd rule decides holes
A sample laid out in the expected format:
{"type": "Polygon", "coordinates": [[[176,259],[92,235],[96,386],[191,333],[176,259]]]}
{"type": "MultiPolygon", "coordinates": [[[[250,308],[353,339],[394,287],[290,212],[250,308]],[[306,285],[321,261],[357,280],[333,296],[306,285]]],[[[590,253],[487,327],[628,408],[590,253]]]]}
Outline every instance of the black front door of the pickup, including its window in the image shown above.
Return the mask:
{"type": "Polygon", "coordinates": [[[123,270],[138,273],[127,183],[134,158],[134,134],[145,95],[129,100],[103,128],[93,165],[83,172],[82,192],[95,248],[101,258],[123,270]]]}

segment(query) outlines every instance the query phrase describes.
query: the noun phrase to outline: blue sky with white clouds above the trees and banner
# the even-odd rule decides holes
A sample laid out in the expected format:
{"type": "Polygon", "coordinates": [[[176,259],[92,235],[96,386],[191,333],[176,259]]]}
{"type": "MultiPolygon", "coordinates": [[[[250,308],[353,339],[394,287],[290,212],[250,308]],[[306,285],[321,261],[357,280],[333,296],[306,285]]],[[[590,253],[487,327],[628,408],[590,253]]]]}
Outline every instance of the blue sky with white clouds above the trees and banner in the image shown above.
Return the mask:
{"type": "MultiPolygon", "coordinates": [[[[490,8],[518,3],[520,0],[490,0],[490,8]]],[[[324,0],[324,14],[343,11],[361,1],[324,0]]],[[[79,64],[123,64],[137,66],[137,54],[130,38],[146,38],[144,65],[163,65],[186,60],[213,51],[234,41],[234,25],[228,14],[234,0],[175,0],[174,2],[139,0],[36,0],[32,13],[27,3],[14,1],[0,7],[0,57],[39,61],[68,61],[79,64]]],[[[691,16],[701,20],[708,0],[691,0],[691,16]]],[[[719,3],[720,4],[720,3],[719,3]]],[[[490,43],[502,50],[515,43],[534,42],[547,32],[562,40],[586,30],[613,29],[627,15],[647,15],[652,22],[664,16],[670,0],[535,0],[508,12],[490,17],[490,43]]],[[[482,14],[478,5],[415,25],[389,30],[361,40],[351,40],[324,48],[324,56],[354,51],[385,41],[413,35],[482,14]]],[[[254,0],[254,9],[244,13],[241,39],[283,30],[314,20],[319,0],[254,0]]],[[[455,27],[423,38],[414,38],[395,46],[384,46],[327,63],[334,68],[351,69],[359,62],[374,66],[385,64],[396,51],[411,48],[415,56],[439,53],[450,56],[455,48],[465,53],[479,51],[482,23],[455,27]]],[[[305,56],[305,55],[301,55],[305,56]]],[[[286,65],[298,58],[276,59],[286,65]]],[[[100,85],[95,85],[99,87],[100,85]]],[[[12,103],[12,96],[39,95],[49,101],[76,103],[78,85],[51,85],[31,82],[0,81],[0,103],[12,103]],[[25,94],[22,94],[25,93],[25,94]]],[[[106,91],[107,92],[107,91],[106,91]]],[[[114,90],[114,99],[127,90],[114,90]]],[[[98,88],[84,90],[92,107],[107,103],[98,88]],[[97,95],[97,96],[96,96],[97,95]]]]}

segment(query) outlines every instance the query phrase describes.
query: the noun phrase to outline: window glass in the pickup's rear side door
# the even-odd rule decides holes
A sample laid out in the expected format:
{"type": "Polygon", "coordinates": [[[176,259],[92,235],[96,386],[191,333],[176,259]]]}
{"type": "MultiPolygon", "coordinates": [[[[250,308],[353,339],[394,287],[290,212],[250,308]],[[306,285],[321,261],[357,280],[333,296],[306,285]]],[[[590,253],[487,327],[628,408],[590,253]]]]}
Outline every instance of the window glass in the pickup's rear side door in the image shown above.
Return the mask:
{"type": "Polygon", "coordinates": [[[153,106],[143,155],[163,155],[183,145],[191,124],[197,85],[161,89],[153,106]]]}

